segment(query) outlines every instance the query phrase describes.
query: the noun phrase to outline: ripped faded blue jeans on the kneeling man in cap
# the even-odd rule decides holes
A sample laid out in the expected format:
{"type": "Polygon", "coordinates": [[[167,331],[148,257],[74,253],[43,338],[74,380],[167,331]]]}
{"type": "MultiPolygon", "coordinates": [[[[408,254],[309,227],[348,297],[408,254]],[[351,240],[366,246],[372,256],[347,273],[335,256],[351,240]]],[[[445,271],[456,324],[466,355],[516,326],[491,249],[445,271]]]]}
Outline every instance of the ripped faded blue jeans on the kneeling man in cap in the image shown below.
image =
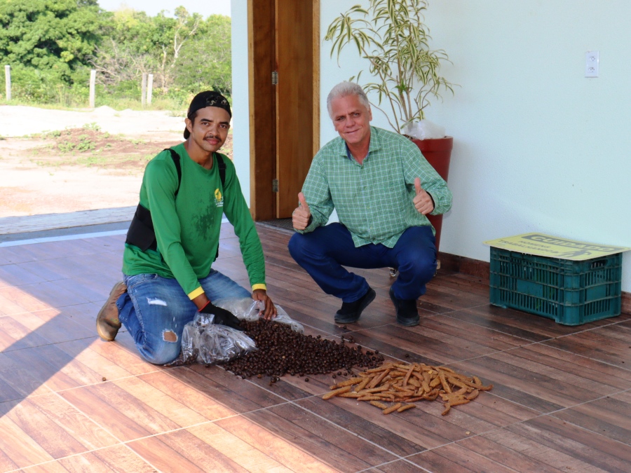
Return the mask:
{"type": "MultiPolygon", "coordinates": [[[[197,307],[177,280],[156,274],[123,275],[127,292],[118,298],[118,319],[134,339],[140,355],[149,363],[172,362],[182,348],[184,325],[197,307]]],[[[210,270],[200,281],[211,301],[226,297],[250,297],[250,292],[229,277],[210,270]]]]}

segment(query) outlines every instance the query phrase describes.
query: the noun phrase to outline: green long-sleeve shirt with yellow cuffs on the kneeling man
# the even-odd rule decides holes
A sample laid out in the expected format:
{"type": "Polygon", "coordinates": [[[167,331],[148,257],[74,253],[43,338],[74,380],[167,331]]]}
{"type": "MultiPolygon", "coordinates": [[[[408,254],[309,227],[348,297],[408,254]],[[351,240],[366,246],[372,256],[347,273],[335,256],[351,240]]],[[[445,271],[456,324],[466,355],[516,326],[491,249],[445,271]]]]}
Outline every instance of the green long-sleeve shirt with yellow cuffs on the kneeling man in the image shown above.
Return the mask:
{"type": "Polygon", "coordinates": [[[208,170],[189,157],[184,144],[173,146],[180,156],[182,181],[169,151],[162,151],[144,170],[140,205],[149,209],[158,242],[146,252],[125,245],[123,273],[175,277],[190,299],[203,293],[199,280],[208,276],[219,247],[222,214],[234,226],[252,289],[266,289],[261,241],[247,208],[234,165],[226,163],[222,186],[216,161],[208,170]]]}

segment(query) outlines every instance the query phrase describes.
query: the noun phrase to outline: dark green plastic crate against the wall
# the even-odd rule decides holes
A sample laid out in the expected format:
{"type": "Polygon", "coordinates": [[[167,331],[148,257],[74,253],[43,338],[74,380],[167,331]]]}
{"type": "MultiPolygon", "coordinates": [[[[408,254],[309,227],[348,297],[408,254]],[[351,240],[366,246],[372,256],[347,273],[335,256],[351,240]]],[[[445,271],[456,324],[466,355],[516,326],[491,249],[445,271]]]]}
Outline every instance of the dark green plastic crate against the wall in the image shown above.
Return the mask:
{"type": "Polygon", "coordinates": [[[491,304],[581,325],[620,315],[622,253],[585,261],[491,247],[491,304]]]}

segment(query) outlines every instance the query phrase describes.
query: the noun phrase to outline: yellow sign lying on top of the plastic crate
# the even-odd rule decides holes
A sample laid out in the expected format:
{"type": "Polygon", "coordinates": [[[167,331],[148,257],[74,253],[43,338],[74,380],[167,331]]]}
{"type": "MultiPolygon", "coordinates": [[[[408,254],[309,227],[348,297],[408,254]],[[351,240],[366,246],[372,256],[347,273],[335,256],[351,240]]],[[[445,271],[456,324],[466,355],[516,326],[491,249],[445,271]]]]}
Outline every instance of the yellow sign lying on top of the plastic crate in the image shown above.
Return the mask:
{"type": "Polygon", "coordinates": [[[571,259],[583,261],[585,259],[600,258],[609,254],[626,252],[629,247],[613,247],[597,245],[596,243],[578,242],[567,238],[558,238],[542,233],[524,233],[498,240],[484,242],[491,247],[508,249],[510,252],[536,254],[548,258],[571,259]]]}

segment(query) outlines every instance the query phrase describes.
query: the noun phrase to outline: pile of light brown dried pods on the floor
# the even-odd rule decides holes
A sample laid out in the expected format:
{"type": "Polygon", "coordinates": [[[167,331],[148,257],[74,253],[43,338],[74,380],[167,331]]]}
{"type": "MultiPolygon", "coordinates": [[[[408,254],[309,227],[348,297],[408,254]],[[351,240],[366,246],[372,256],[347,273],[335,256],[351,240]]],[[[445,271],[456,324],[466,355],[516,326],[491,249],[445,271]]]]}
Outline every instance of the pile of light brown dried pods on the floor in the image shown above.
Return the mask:
{"type": "Polygon", "coordinates": [[[351,397],[379,407],[384,414],[412,409],[416,401],[434,401],[438,397],[445,403],[445,416],[452,406],[473,401],[484,386],[477,376],[465,376],[445,366],[428,366],[422,363],[386,363],[379,368],[367,369],[358,377],[332,385],[323,399],[351,397]],[[385,403],[388,404],[385,404],[385,403]]]}

